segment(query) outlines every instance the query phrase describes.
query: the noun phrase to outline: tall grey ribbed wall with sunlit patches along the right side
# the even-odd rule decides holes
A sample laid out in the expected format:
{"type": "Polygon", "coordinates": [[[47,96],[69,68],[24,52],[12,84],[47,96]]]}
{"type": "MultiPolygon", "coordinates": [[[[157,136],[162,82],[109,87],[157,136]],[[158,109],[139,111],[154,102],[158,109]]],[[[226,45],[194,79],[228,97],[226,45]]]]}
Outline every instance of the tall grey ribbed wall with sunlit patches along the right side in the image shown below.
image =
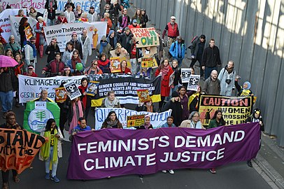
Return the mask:
{"type": "MultiPolygon", "coordinates": [[[[176,16],[180,34],[215,38],[222,65],[232,59],[242,84],[249,80],[262,110],[265,132],[284,146],[284,1],[283,0],[133,0],[152,24],[164,29],[176,16]],[[282,86],[282,87],[281,87],[282,86]]],[[[187,50],[187,52],[189,52],[187,50]]],[[[187,53],[190,56],[190,53],[187,53]]]]}

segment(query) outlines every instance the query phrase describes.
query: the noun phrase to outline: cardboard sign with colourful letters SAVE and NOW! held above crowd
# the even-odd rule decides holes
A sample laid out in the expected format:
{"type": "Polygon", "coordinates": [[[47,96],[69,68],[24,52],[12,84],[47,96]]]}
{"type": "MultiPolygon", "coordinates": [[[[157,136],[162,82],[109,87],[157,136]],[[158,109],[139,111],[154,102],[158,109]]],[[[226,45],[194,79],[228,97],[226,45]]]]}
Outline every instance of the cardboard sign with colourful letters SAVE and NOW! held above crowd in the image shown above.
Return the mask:
{"type": "Polygon", "coordinates": [[[136,41],[138,41],[136,48],[159,45],[159,37],[154,27],[132,28],[131,31],[136,41]]]}

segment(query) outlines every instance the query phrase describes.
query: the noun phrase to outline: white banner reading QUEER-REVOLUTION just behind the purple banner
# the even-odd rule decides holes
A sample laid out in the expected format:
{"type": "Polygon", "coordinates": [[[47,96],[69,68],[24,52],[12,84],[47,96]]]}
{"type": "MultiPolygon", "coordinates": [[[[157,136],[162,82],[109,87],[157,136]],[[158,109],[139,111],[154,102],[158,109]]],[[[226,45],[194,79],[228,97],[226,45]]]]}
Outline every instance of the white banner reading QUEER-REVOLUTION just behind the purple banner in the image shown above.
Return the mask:
{"type": "MultiPolygon", "coordinates": [[[[152,124],[153,128],[159,128],[166,123],[166,118],[171,116],[171,110],[164,111],[162,113],[150,113],[146,111],[134,111],[129,109],[121,109],[121,108],[98,108],[95,112],[95,129],[100,130],[101,125],[103,125],[104,120],[106,120],[106,117],[108,116],[108,113],[110,111],[115,111],[116,116],[118,116],[118,120],[120,120],[120,123],[122,123],[122,126],[124,129],[127,128],[127,116],[134,116],[134,115],[149,115],[150,116],[150,123],[152,124]]],[[[129,127],[129,129],[135,129],[135,127],[129,127]]]]}

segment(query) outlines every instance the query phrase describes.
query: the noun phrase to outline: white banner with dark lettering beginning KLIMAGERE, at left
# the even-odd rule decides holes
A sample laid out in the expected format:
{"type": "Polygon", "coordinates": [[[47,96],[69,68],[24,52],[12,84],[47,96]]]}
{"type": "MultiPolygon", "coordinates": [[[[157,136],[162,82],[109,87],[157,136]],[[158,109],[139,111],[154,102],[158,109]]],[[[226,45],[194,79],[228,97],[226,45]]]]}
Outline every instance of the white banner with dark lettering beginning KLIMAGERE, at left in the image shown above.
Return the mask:
{"type": "Polygon", "coordinates": [[[73,80],[76,85],[80,85],[81,79],[85,76],[56,76],[51,78],[36,78],[30,76],[19,76],[19,99],[20,103],[29,102],[38,98],[41,90],[48,90],[48,97],[55,99],[55,88],[59,87],[62,81],[68,83],[73,80]]]}

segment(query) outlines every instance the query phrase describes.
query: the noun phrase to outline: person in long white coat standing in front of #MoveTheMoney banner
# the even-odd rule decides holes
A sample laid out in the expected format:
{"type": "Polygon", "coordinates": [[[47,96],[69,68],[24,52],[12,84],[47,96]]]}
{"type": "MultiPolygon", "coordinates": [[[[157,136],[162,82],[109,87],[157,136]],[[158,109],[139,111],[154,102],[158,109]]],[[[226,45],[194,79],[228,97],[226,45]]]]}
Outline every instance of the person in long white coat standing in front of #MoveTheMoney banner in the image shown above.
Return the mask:
{"type": "Polygon", "coordinates": [[[82,50],[83,50],[82,62],[85,67],[87,63],[87,57],[92,55],[91,39],[89,36],[87,36],[87,29],[83,29],[79,41],[82,44],[82,50]]]}

